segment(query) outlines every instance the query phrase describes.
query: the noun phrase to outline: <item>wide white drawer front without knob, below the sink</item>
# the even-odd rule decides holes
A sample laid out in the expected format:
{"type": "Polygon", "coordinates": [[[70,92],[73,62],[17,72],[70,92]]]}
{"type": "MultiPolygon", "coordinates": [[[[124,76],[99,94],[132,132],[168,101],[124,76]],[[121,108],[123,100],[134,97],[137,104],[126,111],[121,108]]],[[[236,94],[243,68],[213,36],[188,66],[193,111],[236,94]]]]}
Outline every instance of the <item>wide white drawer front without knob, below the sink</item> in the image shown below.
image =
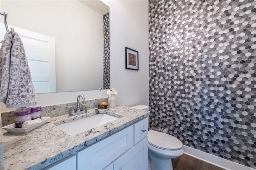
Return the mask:
{"type": "Polygon", "coordinates": [[[78,152],[78,170],[103,169],[133,146],[133,126],[78,152]]]}

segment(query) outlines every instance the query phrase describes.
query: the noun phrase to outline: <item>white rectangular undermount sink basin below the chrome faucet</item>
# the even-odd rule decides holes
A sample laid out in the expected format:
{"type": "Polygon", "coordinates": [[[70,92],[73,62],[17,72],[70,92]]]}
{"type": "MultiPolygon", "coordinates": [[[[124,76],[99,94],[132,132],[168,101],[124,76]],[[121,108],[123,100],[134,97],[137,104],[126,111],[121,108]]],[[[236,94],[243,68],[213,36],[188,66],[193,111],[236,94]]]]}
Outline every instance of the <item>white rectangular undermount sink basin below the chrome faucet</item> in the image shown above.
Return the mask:
{"type": "Polygon", "coordinates": [[[61,130],[63,130],[66,134],[75,135],[75,134],[84,132],[86,130],[90,130],[91,128],[95,128],[105,123],[114,121],[116,119],[119,119],[119,118],[101,113],[98,115],[93,115],[90,117],[78,119],[76,121],[71,121],[71,122],[63,123],[61,125],[56,125],[56,126],[61,130]]]}

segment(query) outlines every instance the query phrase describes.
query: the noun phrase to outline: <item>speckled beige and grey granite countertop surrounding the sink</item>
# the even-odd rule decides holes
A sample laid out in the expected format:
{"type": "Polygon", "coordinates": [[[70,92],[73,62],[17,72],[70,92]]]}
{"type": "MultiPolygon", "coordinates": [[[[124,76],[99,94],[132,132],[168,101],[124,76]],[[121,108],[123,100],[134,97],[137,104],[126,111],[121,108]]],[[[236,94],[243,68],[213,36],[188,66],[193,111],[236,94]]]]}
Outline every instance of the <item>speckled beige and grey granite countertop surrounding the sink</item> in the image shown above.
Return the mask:
{"type": "Polygon", "coordinates": [[[53,117],[48,120],[48,123],[25,134],[8,133],[3,130],[4,169],[42,169],[146,118],[148,115],[149,111],[120,106],[97,111],[91,109],[85,114],[73,117],[68,115],[53,117]],[[107,113],[120,118],[74,136],[70,136],[56,127],[61,123],[96,115],[96,112],[107,113]]]}

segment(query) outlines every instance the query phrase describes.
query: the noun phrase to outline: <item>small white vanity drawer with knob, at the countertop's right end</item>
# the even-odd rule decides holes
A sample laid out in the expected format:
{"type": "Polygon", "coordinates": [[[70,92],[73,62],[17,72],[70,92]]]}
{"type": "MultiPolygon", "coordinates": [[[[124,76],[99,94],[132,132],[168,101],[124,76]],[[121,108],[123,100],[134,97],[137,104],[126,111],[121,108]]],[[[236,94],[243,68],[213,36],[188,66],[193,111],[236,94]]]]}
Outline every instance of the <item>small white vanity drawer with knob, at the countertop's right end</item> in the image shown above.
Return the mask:
{"type": "Polygon", "coordinates": [[[134,144],[140,142],[148,135],[148,118],[142,119],[134,124],[134,144]]]}

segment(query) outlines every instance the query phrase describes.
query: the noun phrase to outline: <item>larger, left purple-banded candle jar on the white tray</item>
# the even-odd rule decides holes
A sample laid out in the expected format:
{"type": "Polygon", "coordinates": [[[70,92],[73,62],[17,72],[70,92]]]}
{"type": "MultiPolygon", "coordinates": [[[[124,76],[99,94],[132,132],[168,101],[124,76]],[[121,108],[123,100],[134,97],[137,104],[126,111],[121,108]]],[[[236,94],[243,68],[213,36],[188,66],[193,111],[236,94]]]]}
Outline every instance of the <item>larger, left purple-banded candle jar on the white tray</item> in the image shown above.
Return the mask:
{"type": "Polygon", "coordinates": [[[29,107],[24,107],[16,109],[14,111],[14,127],[21,128],[22,123],[31,120],[31,109],[29,107]]]}

